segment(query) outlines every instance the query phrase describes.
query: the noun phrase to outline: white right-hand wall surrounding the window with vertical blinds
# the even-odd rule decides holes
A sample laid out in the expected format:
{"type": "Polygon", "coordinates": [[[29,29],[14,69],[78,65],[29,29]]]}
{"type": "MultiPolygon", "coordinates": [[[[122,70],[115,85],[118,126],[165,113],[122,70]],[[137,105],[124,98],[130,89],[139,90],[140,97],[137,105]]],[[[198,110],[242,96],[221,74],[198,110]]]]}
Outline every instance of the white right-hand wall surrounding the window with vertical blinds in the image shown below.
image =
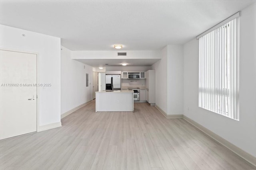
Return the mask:
{"type": "Polygon", "coordinates": [[[198,40],[184,45],[184,114],[256,156],[256,4],[240,16],[240,120],[198,107],[198,40]],[[189,109],[188,109],[189,108],[189,109]]]}

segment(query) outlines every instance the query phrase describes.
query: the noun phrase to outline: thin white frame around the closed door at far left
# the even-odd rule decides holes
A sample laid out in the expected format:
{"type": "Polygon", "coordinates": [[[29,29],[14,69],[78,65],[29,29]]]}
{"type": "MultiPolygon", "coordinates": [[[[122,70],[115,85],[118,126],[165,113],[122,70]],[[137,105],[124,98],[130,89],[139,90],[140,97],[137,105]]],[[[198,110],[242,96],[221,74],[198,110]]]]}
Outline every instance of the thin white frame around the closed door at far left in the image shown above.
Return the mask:
{"type": "MultiPolygon", "coordinates": [[[[36,55],[36,84],[39,83],[39,53],[38,52],[24,51],[24,50],[20,50],[20,49],[9,49],[9,48],[0,48],[0,50],[13,51],[13,52],[18,52],[18,53],[35,54],[36,55]]],[[[39,96],[40,96],[39,88],[38,88],[38,86],[36,86],[36,132],[38,132],[38,130],[39,130],[39,99],[40,99],[39,96]]]]}

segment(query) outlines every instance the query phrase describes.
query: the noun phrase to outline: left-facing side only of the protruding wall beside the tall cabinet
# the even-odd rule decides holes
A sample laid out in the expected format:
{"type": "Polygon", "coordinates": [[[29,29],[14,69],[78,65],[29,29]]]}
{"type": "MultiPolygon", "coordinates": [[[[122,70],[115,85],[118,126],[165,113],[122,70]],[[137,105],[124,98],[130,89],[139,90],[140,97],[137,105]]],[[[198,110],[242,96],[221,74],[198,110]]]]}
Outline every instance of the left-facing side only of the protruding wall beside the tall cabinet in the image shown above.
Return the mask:
{"type": "Polygon", "coordinates": [[[161,51],[161,60],[152,65],[152,69],[156,73],[156,105],[165,113],[167,110],[167,57],[168,47],[164,47],[161,51]]]}

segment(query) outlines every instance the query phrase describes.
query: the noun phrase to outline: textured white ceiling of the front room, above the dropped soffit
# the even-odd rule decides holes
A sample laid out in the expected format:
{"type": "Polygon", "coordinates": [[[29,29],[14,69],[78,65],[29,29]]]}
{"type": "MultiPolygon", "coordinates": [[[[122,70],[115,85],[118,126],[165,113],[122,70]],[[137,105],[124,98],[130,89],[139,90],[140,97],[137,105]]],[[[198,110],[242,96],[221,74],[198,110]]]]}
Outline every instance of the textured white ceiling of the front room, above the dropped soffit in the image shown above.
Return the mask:
{"type": "Polygon", "coordinates": [[[180,45],[255,0],[1,0],[0,23],[61,38],[73,51],[180,45]]]}

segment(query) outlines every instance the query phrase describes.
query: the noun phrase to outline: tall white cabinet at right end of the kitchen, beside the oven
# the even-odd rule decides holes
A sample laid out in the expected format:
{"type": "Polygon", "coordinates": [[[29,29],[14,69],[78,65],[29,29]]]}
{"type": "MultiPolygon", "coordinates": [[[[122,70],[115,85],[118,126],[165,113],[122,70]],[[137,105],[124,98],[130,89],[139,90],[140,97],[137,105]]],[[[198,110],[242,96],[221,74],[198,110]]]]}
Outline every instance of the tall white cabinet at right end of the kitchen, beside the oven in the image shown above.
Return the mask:
{"type": "Polygon", "coordinates": [[[146,71],[146,100],[151,105],[156,104],[156,74],[155,70],[146,71]]]}

